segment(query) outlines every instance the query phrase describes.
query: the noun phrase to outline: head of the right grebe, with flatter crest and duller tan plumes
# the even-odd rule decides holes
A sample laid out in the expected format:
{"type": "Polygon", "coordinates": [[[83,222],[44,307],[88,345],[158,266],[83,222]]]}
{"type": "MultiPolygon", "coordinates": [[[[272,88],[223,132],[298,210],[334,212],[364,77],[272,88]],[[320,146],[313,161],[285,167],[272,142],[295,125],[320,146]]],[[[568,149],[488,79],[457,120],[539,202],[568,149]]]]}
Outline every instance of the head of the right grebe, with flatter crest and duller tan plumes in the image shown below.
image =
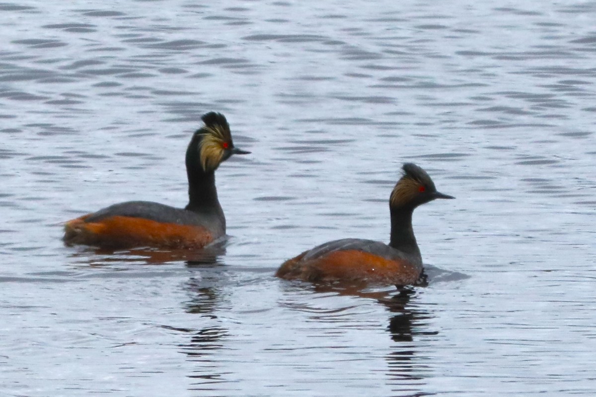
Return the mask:
{"type": "Polygon", "coordinates": [[[420,204],[437,198],[453,199],[455,197],[437,192],[434,182],[418,165],[411,162],[403,164],[403,176],[393,188],[389,205],[393,208],[416,208],[420,204]]]}

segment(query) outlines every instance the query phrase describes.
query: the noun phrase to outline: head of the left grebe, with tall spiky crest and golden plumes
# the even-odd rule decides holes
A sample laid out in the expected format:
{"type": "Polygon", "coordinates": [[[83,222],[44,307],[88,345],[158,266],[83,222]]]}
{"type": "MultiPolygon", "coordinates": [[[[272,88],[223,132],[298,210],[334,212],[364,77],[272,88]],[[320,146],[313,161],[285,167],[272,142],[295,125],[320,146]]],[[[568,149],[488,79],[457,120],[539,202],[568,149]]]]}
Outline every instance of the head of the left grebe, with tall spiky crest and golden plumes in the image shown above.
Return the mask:
{"type": "Polygon", "coordinates": [[[250,153],[234,147],[229,124],[223,114],[209,112],[201,120],[204,126],[195,131],[188,145],[187,168],[196,167],[195,161],[198,161],[204,172],[215,171],[232,154],[250,153]]]}

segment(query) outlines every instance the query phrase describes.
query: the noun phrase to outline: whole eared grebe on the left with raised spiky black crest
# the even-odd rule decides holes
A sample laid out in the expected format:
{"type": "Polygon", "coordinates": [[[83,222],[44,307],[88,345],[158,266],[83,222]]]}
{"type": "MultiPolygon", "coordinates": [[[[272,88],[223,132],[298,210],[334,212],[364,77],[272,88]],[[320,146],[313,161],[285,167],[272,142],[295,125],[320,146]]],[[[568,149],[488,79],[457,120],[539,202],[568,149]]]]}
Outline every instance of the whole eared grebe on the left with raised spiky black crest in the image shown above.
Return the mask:
{"type": "Polygon", "coordinates": [[[249,154],[234,147],[223,114],[201,117],[188,145],[188,205],[183,209],[148,201],[128,201],[70,220],[64,226],[67,245],[99,248],[203,248],[225,235],[224,211],[215,188],[215,170],[232,154],[249,154]]]}

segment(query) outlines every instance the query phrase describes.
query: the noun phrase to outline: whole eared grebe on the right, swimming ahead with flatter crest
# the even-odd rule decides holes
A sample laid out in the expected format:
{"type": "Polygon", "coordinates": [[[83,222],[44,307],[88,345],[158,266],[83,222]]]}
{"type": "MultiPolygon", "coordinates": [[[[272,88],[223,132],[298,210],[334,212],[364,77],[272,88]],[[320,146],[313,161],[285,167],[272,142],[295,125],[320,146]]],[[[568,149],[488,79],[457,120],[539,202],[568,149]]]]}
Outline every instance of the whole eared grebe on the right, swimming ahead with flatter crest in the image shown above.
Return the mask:
{"type": "Polygon", "coordinates": [[[389,198],[391,240],[343,239],[316,246],[287,260],[275,274],[309,282],[412,285],[421,276],[420,249],[412,229],[412,212],[420,204],[454,197],[437,192],[433,180],[418,165],[403,164],[403,176],[389,198]]]}

